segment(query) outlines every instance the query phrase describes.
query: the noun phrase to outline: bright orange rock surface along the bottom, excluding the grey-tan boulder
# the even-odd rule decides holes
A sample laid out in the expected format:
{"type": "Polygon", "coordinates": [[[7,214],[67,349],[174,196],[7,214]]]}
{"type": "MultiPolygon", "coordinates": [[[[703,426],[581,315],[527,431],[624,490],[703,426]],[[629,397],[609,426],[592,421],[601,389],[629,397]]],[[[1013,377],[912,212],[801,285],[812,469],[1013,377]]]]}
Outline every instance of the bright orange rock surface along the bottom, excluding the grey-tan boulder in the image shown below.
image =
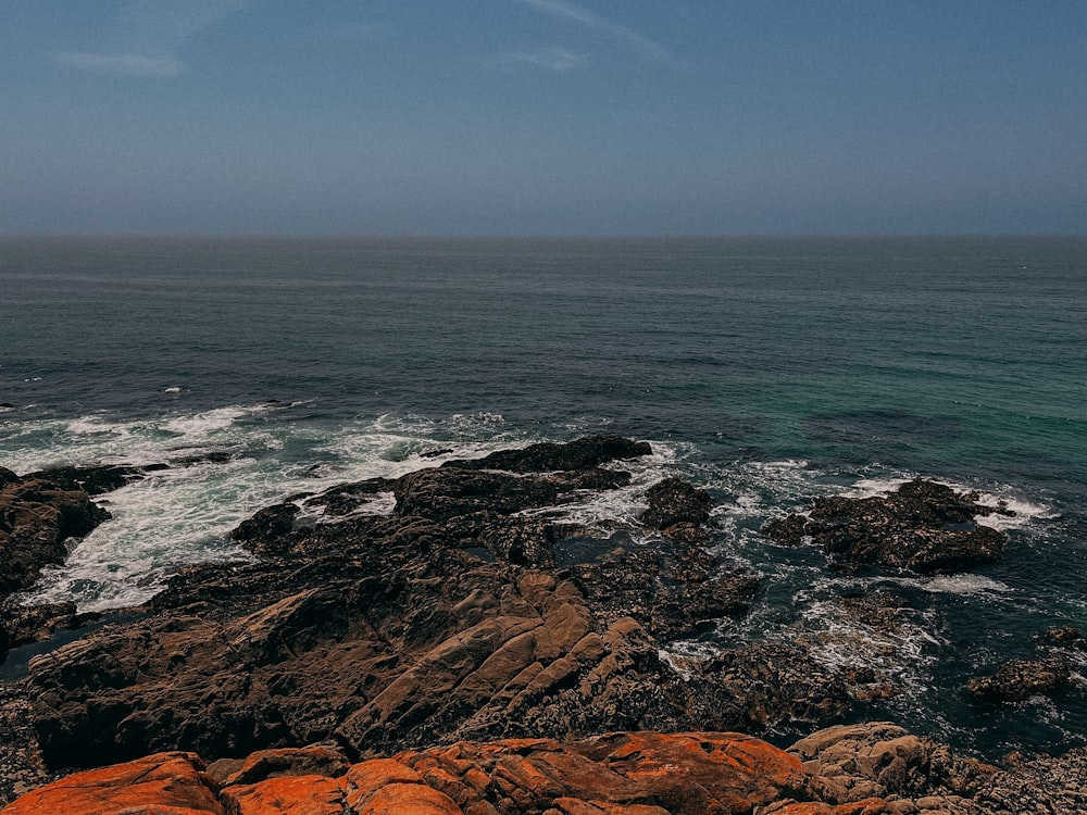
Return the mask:
{"type": "Polygon", "coordinates": [[[211,769],[202,772],[190,753],[160,753],[70,776],[24,795],[2,815],[899,812],[874,798],[802,803],[811,801],[813,787],[810,769],[797,756],[728,732],[615,732],[571,743],[462,741],[350,767],[335,749],[317,747],[262,751],[211,769]]]}

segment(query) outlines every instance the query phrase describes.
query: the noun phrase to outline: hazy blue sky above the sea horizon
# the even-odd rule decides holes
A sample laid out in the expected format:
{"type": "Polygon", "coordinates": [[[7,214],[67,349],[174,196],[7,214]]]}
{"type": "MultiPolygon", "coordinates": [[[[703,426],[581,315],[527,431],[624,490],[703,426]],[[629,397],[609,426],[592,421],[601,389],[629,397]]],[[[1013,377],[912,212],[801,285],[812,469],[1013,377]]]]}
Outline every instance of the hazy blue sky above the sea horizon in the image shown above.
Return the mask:
{"type": "Polygon", "coordinates": [[[1087,233],[1084,0],[0,0],[0,235],[1087,233]]]}

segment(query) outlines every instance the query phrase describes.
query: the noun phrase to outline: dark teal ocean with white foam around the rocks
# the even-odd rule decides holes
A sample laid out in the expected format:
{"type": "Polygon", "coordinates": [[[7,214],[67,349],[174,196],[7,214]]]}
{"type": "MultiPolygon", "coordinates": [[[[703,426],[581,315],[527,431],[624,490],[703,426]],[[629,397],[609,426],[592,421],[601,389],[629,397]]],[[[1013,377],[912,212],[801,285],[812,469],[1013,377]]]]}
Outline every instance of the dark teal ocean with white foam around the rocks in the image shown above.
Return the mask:
{"type": "Polygon", "coordinates": [[[0,238],[0,465],[185,463],[103,497],[25,602],[138,603],[243,559],[226,534],[293,493],[591,432],[654,454],[567,517],[633,519],[678,475],[762,577],[674,654],[804,638],[894,677],[866,718],[984,755],[1087,743],[1087,657],[1055,700],[964,689],[1087,634],[1087,238],[0,238]],[[914,476],[1015,510],[986,522],[1004,559],[850,574],[759,532],[914,476]],[[833,602],[880,586],[897,632],[833,602]]]}

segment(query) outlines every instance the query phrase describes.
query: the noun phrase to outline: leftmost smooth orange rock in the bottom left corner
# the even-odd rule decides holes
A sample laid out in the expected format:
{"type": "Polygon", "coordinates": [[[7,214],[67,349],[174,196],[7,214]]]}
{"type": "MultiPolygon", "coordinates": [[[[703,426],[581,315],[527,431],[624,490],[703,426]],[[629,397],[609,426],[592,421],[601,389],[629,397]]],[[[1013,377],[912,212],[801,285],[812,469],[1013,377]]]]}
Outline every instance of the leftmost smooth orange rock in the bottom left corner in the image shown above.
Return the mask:
{"type": "Polygon", "coordinates": [[[76,773],[28,792],[3,815],[224,815],[193,753],[157,753],[76,773]]]}

